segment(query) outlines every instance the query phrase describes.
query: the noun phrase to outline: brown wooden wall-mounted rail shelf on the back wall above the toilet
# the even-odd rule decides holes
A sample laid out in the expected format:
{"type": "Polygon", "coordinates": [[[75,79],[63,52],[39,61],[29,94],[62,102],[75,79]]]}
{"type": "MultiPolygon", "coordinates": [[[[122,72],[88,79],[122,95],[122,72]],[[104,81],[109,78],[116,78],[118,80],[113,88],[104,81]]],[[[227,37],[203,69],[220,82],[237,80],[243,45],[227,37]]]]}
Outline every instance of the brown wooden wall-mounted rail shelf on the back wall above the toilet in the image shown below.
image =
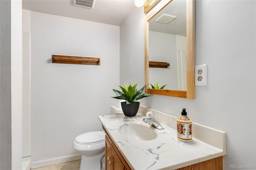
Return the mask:
{"type": "Polygon", "coordinates": [[[100,58],[52,55],[52,63],[100,65],[100,58]]]}

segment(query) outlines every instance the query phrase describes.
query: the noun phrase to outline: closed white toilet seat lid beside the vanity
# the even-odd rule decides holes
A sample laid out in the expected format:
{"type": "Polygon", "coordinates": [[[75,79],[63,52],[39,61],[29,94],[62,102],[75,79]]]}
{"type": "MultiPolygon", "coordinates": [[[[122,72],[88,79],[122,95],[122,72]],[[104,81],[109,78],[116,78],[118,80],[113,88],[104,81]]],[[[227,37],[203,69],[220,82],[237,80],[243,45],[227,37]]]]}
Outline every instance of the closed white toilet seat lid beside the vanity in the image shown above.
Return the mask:
{"type": "Polygon", "coordinates": [[[105,140],[104,131],[86,132],[76,137],[76,142],[79,143],[94,143],[105,140]]]}

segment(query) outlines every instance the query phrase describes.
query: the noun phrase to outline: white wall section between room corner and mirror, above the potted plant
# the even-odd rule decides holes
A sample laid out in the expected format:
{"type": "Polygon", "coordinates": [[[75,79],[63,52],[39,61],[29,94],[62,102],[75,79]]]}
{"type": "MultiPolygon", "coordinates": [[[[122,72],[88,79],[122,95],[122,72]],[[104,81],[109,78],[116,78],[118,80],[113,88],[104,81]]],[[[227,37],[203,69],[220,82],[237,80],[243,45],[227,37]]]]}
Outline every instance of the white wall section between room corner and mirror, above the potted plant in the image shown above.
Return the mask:
{"type": "Polygon", "coordinates": [[[138,83],[138,88],[145,85],[143,21],[143,8],[134,8],[120,26],[120,85],[138,83]]]}

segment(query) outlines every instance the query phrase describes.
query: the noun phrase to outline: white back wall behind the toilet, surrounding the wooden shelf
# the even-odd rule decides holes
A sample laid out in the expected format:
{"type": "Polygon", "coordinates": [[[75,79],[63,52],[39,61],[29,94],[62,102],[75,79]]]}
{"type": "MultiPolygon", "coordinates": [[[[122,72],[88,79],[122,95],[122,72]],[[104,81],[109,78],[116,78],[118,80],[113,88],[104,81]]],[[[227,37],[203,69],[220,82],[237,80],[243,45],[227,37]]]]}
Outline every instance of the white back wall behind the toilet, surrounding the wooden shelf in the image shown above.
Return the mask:
{"type": "Polygon", "coordinates": [[[30,12],[32,168],[78,158],[72,144],[102,130],[119,85],[120,28],[30,12]],[[99,57],[100,65],[52,63],[52,55],[99,57]]]}

